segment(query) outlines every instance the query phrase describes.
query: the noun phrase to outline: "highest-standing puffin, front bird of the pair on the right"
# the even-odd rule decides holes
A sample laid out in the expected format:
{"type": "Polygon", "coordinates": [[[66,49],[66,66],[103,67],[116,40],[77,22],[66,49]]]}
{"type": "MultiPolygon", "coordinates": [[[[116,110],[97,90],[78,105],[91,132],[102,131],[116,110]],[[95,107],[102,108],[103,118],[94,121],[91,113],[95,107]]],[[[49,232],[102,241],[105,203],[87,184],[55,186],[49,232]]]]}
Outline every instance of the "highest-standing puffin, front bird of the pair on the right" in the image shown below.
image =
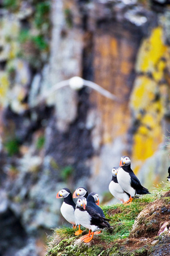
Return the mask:
{"type": "Polygon", "coordinates": [[[133,170],[130,168],[131,160],[129,156],[122,156],[120,160],[120,169],[117,172],[118,184],[124,189],[126,193],[129,193],[130,198],[126,203],[131,203],[135,194],[143,195],[150,194],[147,188],[143,187],[135,176],[133,170]]]}

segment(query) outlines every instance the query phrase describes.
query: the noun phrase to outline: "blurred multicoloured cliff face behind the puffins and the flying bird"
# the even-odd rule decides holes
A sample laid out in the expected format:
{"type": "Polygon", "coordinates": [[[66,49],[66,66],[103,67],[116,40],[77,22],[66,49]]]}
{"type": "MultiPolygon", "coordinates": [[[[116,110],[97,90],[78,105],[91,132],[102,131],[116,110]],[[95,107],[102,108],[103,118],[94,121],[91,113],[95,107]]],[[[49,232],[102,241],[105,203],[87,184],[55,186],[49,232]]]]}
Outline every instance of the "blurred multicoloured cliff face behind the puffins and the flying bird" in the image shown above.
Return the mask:
{"type": "Polygon", "coordinates": [[[166,181],[170,3],[0,1],[0,255],[44,255],[59,189],[111,200],[122,155],[148,189],[166,181]],[[117,96],[65,86],[80,76],[117,96]],[[44,101],[41,96],[47,95],[44,101]]]}

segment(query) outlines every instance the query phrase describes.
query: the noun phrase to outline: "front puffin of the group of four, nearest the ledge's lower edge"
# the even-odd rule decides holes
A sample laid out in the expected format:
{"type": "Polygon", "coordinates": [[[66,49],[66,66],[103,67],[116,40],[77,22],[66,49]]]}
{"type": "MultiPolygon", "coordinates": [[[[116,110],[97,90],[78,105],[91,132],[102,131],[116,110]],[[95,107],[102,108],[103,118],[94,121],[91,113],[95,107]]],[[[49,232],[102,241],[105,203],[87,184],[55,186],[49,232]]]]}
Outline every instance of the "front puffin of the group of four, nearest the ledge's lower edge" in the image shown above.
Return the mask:
{"type": "Polygon", "coordinates": [[[76,201],[75,208],[75,220],[80,223],[84,228],[89,229],[87,235],[82,236],[80,240],[88,243],[94,237],[95,230],[111,228],[110,224],[107,222],[108,219],[102,217],[99,213],[96,212],[93,208],[87,206],[86,197],[79,197],[76,201]]]}

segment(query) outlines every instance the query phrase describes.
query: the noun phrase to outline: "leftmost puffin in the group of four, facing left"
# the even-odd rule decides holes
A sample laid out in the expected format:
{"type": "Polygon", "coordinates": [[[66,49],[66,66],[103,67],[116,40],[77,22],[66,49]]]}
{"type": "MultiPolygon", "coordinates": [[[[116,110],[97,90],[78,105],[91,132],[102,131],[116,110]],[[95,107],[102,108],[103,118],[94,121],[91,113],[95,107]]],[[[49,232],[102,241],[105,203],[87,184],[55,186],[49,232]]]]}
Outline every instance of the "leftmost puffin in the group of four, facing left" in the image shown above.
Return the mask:
{"type": "MultiPolygon", "coordinates": [[[[73,201],[73,197],[71,194],[71,191],[69,188],[63,188],[61,189],[58,193],[56,198],[63,198],[63,203],[61,205],[61,214],[62,216],[66,219],[66,221],[70,222],[73,225],[73,228],[76,228],[76,221],[75,221],[75,216],[74,216],[74,211],[75,211],[75,203],[73,201]]],[[[75,236],[78,236],[78,234],[82,233],[82,230],[79,230],[78,232],[75,232],[75,236]]]]}

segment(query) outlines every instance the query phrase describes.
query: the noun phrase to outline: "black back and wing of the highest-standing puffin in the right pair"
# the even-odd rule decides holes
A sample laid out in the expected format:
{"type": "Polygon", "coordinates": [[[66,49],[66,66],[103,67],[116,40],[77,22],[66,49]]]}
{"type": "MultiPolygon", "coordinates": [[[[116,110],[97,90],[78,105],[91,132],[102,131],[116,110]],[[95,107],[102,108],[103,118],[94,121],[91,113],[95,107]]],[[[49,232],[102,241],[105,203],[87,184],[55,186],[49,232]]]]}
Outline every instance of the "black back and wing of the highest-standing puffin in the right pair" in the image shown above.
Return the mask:
{"type": "Polygon", "coordinates": [[[137,176],[134,174],[134,172],[131,170],[130,164],[128,166],[122,166],[123,170],[125,172],[128,172],[131,178],[131,187],[133,187],[137,194],[143,195],[143,194],[150,194],[147,188],[143,187],[141,185],[141,182],[138,180],[137,176]]]}

